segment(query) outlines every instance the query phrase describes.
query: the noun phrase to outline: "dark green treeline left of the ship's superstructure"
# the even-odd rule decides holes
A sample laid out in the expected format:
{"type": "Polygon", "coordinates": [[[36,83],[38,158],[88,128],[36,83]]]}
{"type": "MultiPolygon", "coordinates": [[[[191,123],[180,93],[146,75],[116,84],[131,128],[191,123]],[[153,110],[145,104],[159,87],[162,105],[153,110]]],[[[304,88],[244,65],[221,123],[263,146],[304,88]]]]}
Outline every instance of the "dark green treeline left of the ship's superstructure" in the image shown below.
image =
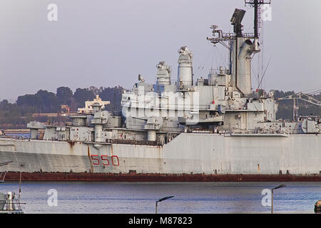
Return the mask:
{"type": "MultiPolygon", "coordinates": [[[[123,88],[77,88],[73,93],[71,88],[61,86],[56,93],[47,90],[39,90],[35,94],[21,95],[16,103],[9,103],[8,100],[0,101],[0,128],[25,128],[33,113],[61,113],[61,105],[68,105],[71,112],[78,108],[84,108],[86,100],[93,100],[99,95],[101,100],[109,100],[110,105],[106,110],[111,112],[121,111],[121,93],[123,88]]],[[[50,118],[41,118],[39,121],[46,122],[50,118]]]]}

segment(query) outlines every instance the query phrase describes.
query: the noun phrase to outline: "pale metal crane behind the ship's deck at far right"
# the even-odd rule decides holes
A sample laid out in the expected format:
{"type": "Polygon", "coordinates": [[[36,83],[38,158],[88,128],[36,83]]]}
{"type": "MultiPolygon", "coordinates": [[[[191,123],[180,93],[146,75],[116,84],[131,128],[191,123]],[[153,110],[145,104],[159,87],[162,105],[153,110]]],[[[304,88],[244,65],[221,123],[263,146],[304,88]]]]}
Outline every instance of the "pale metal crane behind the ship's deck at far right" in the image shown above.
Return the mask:
{"type": "Polygon", "coordinates": [[[278,98],[277,100],[293,100],[293,121],[298,121],[299,119],[299,100],[304,100],[313,105],[321,106],[321,101],[313,98],[307,93],[295,93],[292,95],[287,95],[283,98],[278,98]]]}

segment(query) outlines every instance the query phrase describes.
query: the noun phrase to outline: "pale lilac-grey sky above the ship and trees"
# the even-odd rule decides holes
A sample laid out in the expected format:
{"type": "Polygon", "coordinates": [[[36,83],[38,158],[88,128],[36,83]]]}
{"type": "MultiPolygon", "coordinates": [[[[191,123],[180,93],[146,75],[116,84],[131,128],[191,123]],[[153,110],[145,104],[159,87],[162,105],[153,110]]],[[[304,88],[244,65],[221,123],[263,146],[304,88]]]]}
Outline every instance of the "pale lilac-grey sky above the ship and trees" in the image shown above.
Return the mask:
{"type": "MultiPolygon", "coordinates": [[[[180,46],[193,51],[194,78],[207,77],[228,63],[227,49],[206,40],[210,26],[232,32],[235,8],[246,10],[244,32],[253,32],[244,0],[0,0],[0,100],[60,86],[130,89],[138,74],[155,83],[159,61],[175,80],[180,46]],[[49,4],[57,21],[48,20],[49,4]]],[[[320,0],[272,0],[260,31],[263,57],[253,58],[254,73],[268,65],[263,89],[321,88],[320,9],[320,0]]]]}

